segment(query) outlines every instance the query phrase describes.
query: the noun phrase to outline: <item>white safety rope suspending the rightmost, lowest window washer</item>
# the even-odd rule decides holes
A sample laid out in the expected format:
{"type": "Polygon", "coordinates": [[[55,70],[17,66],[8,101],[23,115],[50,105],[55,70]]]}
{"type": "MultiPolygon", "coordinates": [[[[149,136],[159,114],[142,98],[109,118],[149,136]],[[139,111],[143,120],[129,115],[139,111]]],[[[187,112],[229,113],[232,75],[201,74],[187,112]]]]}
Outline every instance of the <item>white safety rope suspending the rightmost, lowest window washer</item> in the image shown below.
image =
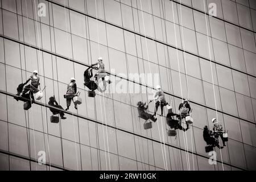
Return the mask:
{"type": "MultiPolygon", "coordinates": [[[[218,121],[217,102],[216,102],[216,95],[215,95],[215,89],[214,89],[214,80],[213,80],[213,71],[212,71],[212,57],[211,57],[211,52],[210,52],[210,42],[209,42],[209,33],[208,33],[208,25],[207,25],[207,14],[206,14],[206,10],[205,10],[205,0],[204,0],[204,15],[205,15],[205,25],[206,25],[206,28],[207,28],[207,40],[208,40],[208,49],[209,49],[209,57],[210,57],[210,72],[212,73],[212,87],[213,87],[213,95],[214,95],[214,104],[215,104],[215,110],[216,110],[216,118],[217,118],[217,121],[218,121]]],[[[220,155],[221,155],[222,171],[224,171],[221,148],[220,148],[220,155]]]]}

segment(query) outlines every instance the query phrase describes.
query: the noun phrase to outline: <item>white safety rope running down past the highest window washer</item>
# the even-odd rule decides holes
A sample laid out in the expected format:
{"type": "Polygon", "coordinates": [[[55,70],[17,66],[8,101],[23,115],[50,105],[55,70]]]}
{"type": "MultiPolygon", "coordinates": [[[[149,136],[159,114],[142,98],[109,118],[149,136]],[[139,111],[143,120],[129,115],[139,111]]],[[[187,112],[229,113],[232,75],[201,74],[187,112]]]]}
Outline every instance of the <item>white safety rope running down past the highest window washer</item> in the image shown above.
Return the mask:
{"type": "MultiPolygon", "coordinates": [[[[98,57],[100,57],[100,36],[99,36],[99,31],[98,31],[98,12],[97,12],[97,1],[95,0],[95,10],[96,10],[96,25],[97,25],[97,38],[98,38],[98,57]]],[[[97,75],[97,80],[98,80],[98,88],[100,88],[99,81],[100,78],[97,75]]],[[[98,89],[97,89],[98,90],[98,89]]],[[[104,92],[104,91],[103,91],[104,92]]],[[[100,91],[98,90],[98,94],[100,97],[100,106],[101,106],[101,119],[102,119],[102,131],[103,131],[103,139],[104,139],[104,150],[105,150],[105,160],[106,160],[106,170],[108,170],[108,161],[107,161],[107,156],[106,156],[106,142],[105,142],[105,131],[104,131],[104,118],[102,114],[102,104],[101,104],[101,94],[100,91]]],[[[104,94],[102,94],[102,97],[104,97],[104,94]]],[[[104,99],[104,98],[103,98],[104,99]]],[[[105,102],[104,102],[105,103],[105,102]]],[[[104,104],[104,111],[105,111],[105,104],[104,104]]],[[[105,113],[105,123],[106,123],[106,113],[105,113]]],[[[105,126],[107,127],[107,126],[105,126]]],[[[108,139],[108,129],[106,129],[106,137],[108,139]]],[[[108,141],[107,141],[108,142],[108,141]]],[[[108,158],[109,158],[109,170],[110,170],[110,156],[109,156],[109,143],[107,143],[108,147],[108,158]]]]}

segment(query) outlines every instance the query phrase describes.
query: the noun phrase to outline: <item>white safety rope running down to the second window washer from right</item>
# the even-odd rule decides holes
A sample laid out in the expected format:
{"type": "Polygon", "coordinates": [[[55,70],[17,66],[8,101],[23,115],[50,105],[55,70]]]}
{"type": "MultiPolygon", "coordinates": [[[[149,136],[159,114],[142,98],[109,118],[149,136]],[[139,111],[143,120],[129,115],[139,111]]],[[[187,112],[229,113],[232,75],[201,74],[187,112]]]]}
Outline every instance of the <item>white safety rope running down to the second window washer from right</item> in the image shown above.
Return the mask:
{"type": "MultiPolygon", "coordinates": [[[[177,65],[178,65],[178,69],[179,69],[181,101],[183,101],[183,92],[182,92],[181,76],[180,76],[180,61],[179,61],[179,53],[178,53],[178,49],[177,49],[177,36],[176,36],[176,28],[175,28],[175,16],[174,16],[174,3],[173,3],[173,1],[172,1],[172,16],[173,16],[172,18],[174,20],[174,34],[175,34],[176,53],[177,53],[177,65]]],[[[180,113],[180,121],[182,121],[181,113],[180,113]]],[[[186,160],[187,160],[187,167],[188,167],[188,170],[190,171],[188,148],[187,148],[187,145],[186,145],[187,137],[185,138],[184,132],[182,134],[183,134],[183,139],[184,139],[184,148],[185,148],[185,155],[186,155],[186,160]]]]}

